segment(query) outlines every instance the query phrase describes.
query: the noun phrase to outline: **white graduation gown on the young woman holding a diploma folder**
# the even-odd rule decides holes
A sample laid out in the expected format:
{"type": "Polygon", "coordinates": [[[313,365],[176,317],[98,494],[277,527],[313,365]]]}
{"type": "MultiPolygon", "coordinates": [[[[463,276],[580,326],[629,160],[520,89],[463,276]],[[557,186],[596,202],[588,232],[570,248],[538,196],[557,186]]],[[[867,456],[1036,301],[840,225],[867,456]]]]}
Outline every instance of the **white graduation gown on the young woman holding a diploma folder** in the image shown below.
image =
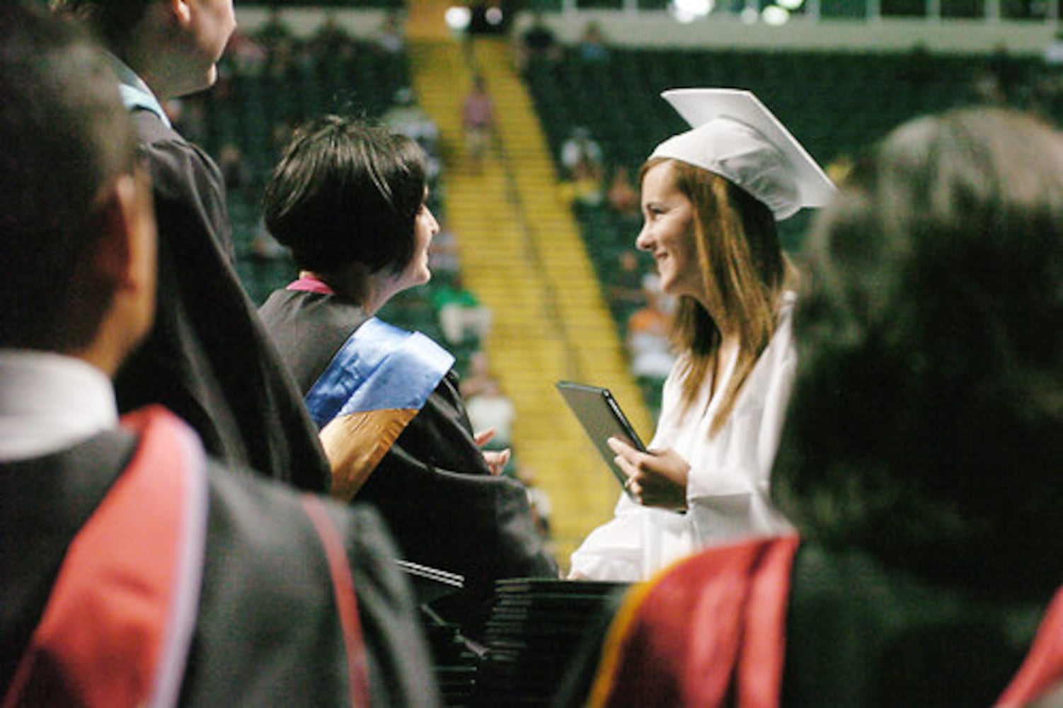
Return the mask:
{"type": "MultiPolygon", "coordinates": [[[[794,293],[784,294],[772,340],[727,422],[712,438],[709,425],[720,400],[708,404],[706,382],[681,416],[684,359],[676,363],[664,382],[661,416],[649,448],[672,448],[690,463],[688,510],[648,508],[621,494],[612,521],[591,532],[572,554],[573,574],[595,580],[643,580],[706,545],[793,530],[773,506],[769,489],[797,360],[791,335],[794,300],[794,293]]],[[[718,390],[726,386],[732,368],[733,364],[718,390]]]]}

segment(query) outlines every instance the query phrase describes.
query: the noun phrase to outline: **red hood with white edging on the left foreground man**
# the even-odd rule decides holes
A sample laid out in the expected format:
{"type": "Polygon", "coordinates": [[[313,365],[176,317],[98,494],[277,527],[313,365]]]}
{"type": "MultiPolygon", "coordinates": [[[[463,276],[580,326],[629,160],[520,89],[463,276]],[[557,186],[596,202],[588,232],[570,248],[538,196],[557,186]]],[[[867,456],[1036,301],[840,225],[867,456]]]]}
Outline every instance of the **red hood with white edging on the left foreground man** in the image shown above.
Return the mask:
{"type": "Polygon", "coordinates": [[[178,703],[202,578],[204,457],[161,407],[122,425],[136,454],[70,544],[4,708],[178,703]]]}

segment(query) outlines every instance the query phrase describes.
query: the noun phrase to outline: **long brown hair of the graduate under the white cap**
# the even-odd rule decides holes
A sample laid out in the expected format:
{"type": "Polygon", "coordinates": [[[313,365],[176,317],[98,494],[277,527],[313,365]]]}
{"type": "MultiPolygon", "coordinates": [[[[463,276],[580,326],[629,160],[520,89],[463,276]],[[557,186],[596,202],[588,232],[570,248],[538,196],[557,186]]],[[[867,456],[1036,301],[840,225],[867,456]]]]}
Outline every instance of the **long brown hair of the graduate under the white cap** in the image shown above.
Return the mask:
{"type": "MultiPolygon", "coordinates": [[[[642,176],[661,162],[647,161],[642,176]]],[[[738,333],[735,374],[727,387],[716,392],[723,400],[709,427],[713,436],[727,421],[742,386],[772,339],[782,290],[795,271],[782,253],[775,218],[766,206],[726,179],[679,161],[672,162],[672,179],[694,205],[697,266],[713,310],[692,297],[679,298],[672,342],[686,355],[684,415],[715,368],[721,330],[738,333]],[[713,313],[725,321],[718,322],[713,313]]]]}

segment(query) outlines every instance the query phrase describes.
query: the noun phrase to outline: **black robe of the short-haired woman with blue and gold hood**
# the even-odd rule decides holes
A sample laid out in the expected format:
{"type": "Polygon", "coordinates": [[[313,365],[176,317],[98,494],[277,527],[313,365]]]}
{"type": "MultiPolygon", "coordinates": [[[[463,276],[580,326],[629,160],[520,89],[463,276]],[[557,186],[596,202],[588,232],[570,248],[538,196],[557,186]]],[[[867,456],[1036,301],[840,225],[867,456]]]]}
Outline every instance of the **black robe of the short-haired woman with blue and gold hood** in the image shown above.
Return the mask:
{"type": "MultiPolygon", "coordinates": [[[[334,294],[273,292],[260,309],[305,394],[367,316],[334,294]]],[[[355,500],[375,505],[405,559],[458,573],[472,594],[496,579],[557,576],[527,494],[492,476],[451,369],[391,445],[355,500]]]]}

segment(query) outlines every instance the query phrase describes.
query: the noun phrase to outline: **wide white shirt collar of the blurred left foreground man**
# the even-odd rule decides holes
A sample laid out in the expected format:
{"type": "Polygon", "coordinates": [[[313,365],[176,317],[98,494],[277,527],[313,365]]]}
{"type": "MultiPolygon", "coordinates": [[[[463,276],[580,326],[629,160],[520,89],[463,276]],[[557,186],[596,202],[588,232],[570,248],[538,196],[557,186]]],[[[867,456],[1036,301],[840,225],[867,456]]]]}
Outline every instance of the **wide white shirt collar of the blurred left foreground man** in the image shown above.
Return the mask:
{"type": "Polygon", "coordinates": [[[40,457],[118,424],[111,380],[46,352],[0,350],[0,460],[40,457]]]}

